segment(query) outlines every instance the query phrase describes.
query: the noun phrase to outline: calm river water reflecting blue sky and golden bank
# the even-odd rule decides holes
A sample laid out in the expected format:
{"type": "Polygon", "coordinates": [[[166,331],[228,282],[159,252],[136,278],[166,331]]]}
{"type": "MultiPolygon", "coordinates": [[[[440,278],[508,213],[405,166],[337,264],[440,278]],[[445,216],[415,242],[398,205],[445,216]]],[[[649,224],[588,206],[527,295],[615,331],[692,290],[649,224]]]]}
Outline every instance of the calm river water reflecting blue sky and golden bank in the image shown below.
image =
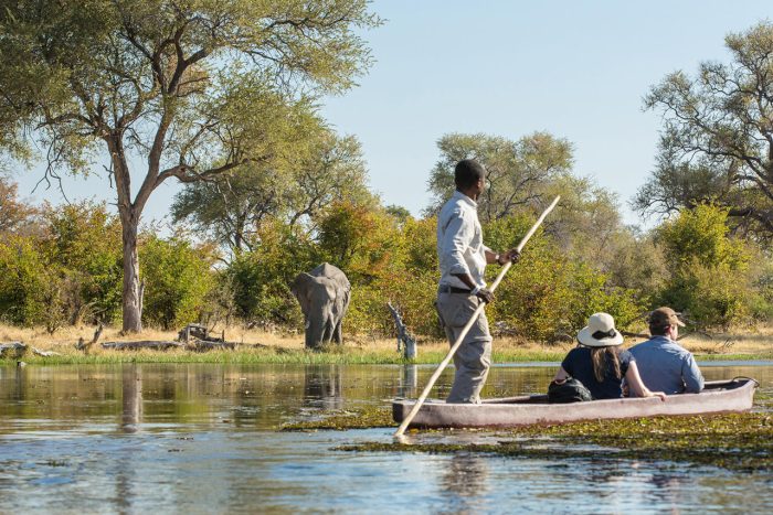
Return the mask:
{"type": "MultiPolygon", "coordinates": [[[[771,513],[773,474],[673,462],[348,453],[391,429],[284,422],[416,396],[434,366],[0,367],[0,513],[771,513]],[[750,494],[751,493],[751,494],[750,494]]],[[[484,394],[546,388],[497,366],[484,394]]],[[[773,365],[705,366],[773,395],[773,365]]],[[[447,371],[434,396],[444,395],[447,371]]],[[[480,441],[480,432],[419,434],[480,441]]],[[[433,440],[431,440],[433,439],[433,440]]]]}

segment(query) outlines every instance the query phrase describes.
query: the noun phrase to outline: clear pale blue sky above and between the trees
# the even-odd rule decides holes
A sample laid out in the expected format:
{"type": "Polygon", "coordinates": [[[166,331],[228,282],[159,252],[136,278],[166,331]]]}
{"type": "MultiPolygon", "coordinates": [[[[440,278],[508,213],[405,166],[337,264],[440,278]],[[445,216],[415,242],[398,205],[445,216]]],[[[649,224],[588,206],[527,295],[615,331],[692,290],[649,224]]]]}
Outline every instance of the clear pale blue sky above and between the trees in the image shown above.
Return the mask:
{"type": "MultiPolygon", "coordinates": [[[[371,11],[384,19],[360,33],[374,63],[321,112],[360,140],[385,205],[419,216],[430,204],[446,133],[548,131],[572,142],[574,173],[614,192],[624,222],[640,226],[653,221],[629,201],[653,171],[661,128],[643,97],[671,72],[729,62],[728,33],[773,20],[773,3],[752,0],[378,0],[371,11]]],[[[24,199],[64,202],[56,189],[32,193],[39,170],[12,178],[24,199]]],[[[179,189],[167,181],[153,192],[144,221],[163,221],[179,189]]],[[[66,190],[70,201],[115,203],[104,176],[66,190]]]]}

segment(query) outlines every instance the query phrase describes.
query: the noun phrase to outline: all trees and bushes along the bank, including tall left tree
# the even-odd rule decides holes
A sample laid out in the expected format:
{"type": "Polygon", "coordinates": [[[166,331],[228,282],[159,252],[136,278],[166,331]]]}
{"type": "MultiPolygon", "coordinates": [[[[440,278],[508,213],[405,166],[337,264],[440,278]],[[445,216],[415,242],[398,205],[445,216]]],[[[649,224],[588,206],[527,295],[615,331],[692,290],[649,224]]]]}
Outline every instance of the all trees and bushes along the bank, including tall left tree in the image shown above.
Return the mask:
{"type": "Polygon", "coordinates": [[[661,217],[640,233],[547,132],[446,135],[426,212],[384,206],[358,140],[320,111],[373,63],[362,34],[384,20],[363,0],[40,6],[0,9],[0,170],[42,163],[52,182],[106,165],[117,213],[27,205],[0,181],[2,322],[298,329],[288,285],[328,261],[353,286],[347,333],[391,334],[391,301],[411,331],[437,335],[433,216],[464,158],[488,170],[479,216],[493,248],[516,245],[562,196],[488,308],[495,333],[553,341],[594,311],[625,328],[658,304],[698,326],[771,318],[770,22],[729,34],[729,63],[675,72],[645,96],[663,129],[633,205],[661,217]],[[172,180],[186,189],[161,237],[140,224],[172,180]]]}

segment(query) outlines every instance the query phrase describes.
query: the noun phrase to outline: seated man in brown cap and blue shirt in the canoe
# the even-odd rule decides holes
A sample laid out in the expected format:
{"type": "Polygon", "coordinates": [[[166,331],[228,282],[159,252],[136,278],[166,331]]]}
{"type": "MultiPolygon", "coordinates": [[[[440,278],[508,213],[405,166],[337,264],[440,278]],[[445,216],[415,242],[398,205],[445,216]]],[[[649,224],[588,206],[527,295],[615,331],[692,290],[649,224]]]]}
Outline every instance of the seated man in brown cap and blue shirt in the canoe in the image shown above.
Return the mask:
{"type": "Polygon", "coordinates": [[[692,353],[676,342],[680,325],[685,324],[673,309],[658,308],[649,313],[652,339],[631,348],[642,380],[649,389],[668,395],[697,394],[703,389],[703,376],[692,353]]]}

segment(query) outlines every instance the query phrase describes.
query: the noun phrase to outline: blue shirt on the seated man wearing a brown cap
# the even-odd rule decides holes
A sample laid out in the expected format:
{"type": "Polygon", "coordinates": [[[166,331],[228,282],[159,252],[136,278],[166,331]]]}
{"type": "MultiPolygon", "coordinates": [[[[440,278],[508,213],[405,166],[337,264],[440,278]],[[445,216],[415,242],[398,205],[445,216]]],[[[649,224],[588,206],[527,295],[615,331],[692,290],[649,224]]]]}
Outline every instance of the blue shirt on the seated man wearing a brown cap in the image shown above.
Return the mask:
{"type": "Polygon", "coordinates": [[[655,391],[697,394],[703,389],[703,376],[692,353],[667,336],[634,345],[631,354],[636,358],[642,382],[655,391]]]}

